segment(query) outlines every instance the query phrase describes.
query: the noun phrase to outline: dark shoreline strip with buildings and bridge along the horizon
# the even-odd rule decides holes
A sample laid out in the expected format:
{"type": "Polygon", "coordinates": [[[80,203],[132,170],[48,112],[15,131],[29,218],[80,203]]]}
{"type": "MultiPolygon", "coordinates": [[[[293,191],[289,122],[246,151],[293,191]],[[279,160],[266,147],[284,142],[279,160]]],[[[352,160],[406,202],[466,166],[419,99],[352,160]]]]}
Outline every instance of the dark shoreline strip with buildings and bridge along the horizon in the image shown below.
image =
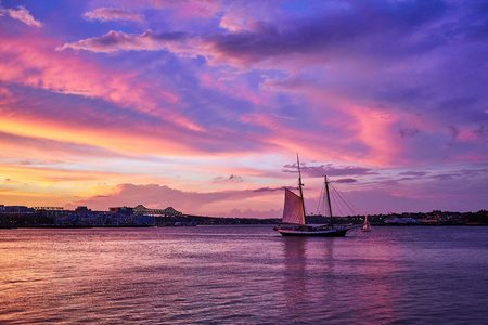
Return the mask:
{"type": "MultiPolygon", "coordinates": [[[[307,216],[308,223],[328,223],[329,217],[307,216]]],[[[435,210],[423,213],[369,214],[372,225],[488,225],[488,211],[449,212],[435,210]]],[[[108,211],[92,211],[87,207],[27,208],[0,205],[0,227],[124,227],[124,226],[194,226],[211,224],[278,224],[281,218],[219,218],[184,214],[171,207],[146,209],[116,207],[108,211]]],[[[334,223],[361,224],[364,216],[334,217],[334,223]]]]}

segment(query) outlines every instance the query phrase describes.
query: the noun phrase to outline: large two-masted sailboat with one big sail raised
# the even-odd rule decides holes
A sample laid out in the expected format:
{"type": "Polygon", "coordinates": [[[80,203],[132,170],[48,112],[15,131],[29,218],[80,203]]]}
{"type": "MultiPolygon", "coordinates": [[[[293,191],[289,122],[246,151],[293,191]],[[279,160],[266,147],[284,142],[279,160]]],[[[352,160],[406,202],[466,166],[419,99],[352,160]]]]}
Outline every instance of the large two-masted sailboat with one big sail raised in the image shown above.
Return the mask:
{"type": "Polygon", "coordinates": [[[324,186],[329,205],[330,221],[326,224],[310,224],[305,221],[304,193],[301,190],[301,172],[298,155],[298,190],[299,195],[285,188],[285,200],[283,208],[282,223],[275,226],[283,236],[317,236],[317,237],[343,237],[352,227],[349,225],[334,224],[331,209],[331,198],[329,196],[329,181],[324,177],[324,186]]]}

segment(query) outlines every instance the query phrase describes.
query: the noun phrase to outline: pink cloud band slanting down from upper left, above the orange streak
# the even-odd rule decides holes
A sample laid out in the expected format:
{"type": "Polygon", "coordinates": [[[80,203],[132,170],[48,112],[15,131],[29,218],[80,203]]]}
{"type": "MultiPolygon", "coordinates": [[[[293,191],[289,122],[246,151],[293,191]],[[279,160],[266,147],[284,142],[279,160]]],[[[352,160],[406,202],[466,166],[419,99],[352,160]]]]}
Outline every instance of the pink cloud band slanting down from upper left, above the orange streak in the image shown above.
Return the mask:
{"type": "Polygon", "coordinates": [[[134,72],[107,70],[72,54],[52,51],[53,42],[42,37],[9,38],[0,44],[0,80],[48,89],[53,92],[101,98],[121,107],[165,117],[182,128],[202,127],[164,103],[176,104],[179,96],[164,86],[144,81],[134,72]],[[137,87],[134,87],[137,84],[137,87]],[[158,91],[154,92],[153,89],[158,91]]]}

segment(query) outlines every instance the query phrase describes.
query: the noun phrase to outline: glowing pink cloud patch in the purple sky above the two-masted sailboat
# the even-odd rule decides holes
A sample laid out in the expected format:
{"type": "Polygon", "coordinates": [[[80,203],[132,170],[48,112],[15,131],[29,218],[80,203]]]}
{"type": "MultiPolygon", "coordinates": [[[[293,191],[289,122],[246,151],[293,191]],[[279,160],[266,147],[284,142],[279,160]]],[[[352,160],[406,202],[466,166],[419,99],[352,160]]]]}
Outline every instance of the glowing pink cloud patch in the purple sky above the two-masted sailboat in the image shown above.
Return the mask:
{"type": "MultiPolygon", "coordinates": [[[[306,76],[292,75],[290,79],[268,79],[265,88],[274,92],[294,93],[303,98],[308,107],[307,113],[312,125],[321,125],[321,136],[309,140],[308,146],[320,152],[326,147],[329,160],[344,159],[359,161],[376,167],[396,167],[412,162],[411,139],[419,133],[419,128],[433,128],[435,122],[425,116],[402,112],[393,104],[382,101],[357,99],[354,93],[329,80],[343,78],[338,70],[321,66],[328,78],[324,84],[308,82],[306,76]],[[337,75],[337,77],[336,77],[337,75]],[[406,129],[408,126],[408,129],[406,129]],[[409,131],[411,130],[411,131],[409,131]],[[416,130],[416,131],[414,131],[416,130]]],[[[368,72],[359,70],[357,78],[368,72]]],[[[317,132],[317,130],[311,130],[317,132]]],[[[311,138],[311,136],[310,136],[311,138]]]]}

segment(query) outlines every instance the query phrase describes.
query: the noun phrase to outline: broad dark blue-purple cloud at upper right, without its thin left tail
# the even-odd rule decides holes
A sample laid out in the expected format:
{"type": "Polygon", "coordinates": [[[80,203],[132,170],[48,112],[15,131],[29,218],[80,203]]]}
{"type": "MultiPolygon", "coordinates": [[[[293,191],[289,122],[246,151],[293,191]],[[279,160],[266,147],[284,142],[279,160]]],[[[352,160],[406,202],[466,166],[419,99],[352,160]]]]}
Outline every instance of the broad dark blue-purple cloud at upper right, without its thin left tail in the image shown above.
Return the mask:
{"type": "Polygon", "coordinates": [[[354,56],[358,47],[363,47],[362,55],[369,50],[382,56],[388,52],[404,55],[420,49],[413,46],[414,49],[406,51],[404,47],[412,47],[406,43],[400,51],[398,42],[422,25],[440,18],[446,9],[444,1],[348,2],[347,9],[332,13],[319,5],[311,17],[282,17],[259,24],[255,31],[216,36],[214,46],[245,62],[297,53],[354,56]],[[396,47],[391,46],[391,39],[396,47]]]}

